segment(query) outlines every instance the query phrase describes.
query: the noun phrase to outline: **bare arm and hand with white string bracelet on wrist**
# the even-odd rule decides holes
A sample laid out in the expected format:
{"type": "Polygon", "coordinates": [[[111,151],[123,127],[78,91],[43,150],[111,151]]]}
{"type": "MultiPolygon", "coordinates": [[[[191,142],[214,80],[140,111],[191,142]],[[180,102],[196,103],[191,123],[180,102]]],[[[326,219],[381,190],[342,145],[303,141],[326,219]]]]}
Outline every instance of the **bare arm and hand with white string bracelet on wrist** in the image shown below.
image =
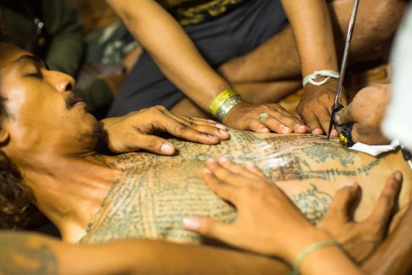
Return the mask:
{"type": "MultiPolygon", "coordinates": [[[[332,23],[326,1],[282,0],[282,4],[295,34],[302,76],[325,69],[338,71],[332,23]]],[[[296,113],[304,119],[313,134],[328,132],[330,109],[337,84],[337,80],[330,79],[321,86],[308,83],[305,87],[296,113]]],[[[345,96],[341,97],[341,103],[344,106],[347,104],[345,96]]],[[[333,130],[332,136],[337,135],[333,130]]]]}

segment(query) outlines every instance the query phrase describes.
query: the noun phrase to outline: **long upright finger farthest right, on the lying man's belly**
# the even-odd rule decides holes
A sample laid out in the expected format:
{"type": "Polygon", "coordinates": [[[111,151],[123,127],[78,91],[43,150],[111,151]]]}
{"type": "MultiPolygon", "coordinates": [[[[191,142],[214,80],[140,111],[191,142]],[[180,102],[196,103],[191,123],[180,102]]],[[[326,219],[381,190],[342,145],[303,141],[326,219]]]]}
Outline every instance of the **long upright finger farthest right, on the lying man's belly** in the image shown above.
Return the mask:
{"type": "Polygon", "coordinates": [[[402,180],[402,173],[399,171],[396,171],[389,177],[389,179],[387,179],[387,184],[380,193],[378,202],[367,221],[380,225],[387,225],[391,214],[396,207],[396,201],[400,193],[400,188],[402,187],[402,180]]]}

